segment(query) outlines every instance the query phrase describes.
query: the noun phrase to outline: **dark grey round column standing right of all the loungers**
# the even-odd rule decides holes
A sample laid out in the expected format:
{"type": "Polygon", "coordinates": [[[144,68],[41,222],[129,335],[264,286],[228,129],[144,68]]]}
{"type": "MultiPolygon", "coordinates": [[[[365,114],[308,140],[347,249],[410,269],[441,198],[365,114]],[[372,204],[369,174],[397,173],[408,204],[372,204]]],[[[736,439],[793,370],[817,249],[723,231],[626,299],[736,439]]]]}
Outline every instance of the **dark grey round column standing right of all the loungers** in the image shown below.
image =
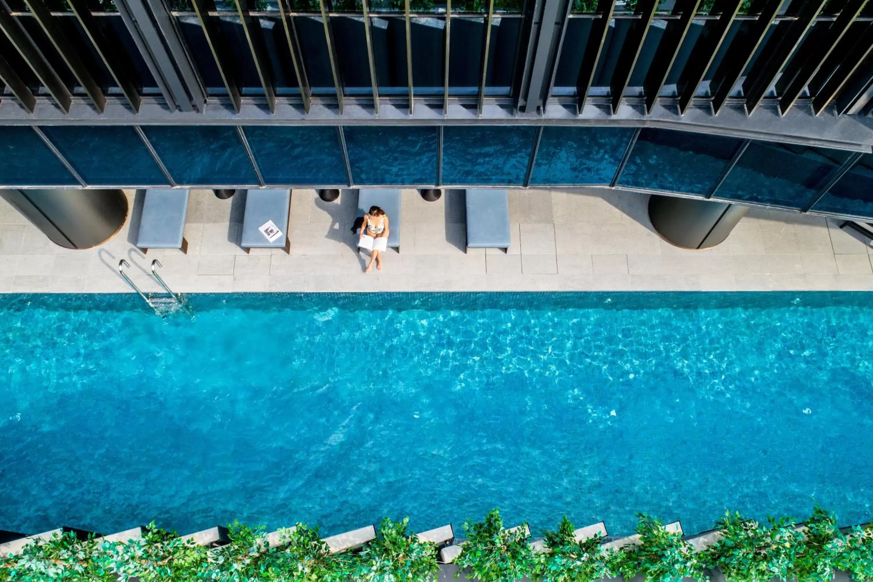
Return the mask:
{"type": "Polygon", "coordinates": [[[649,219],[668,243],[684,249],[709,249],[727,238],[748,207],[711,200],[652,195],[649,219]]]}

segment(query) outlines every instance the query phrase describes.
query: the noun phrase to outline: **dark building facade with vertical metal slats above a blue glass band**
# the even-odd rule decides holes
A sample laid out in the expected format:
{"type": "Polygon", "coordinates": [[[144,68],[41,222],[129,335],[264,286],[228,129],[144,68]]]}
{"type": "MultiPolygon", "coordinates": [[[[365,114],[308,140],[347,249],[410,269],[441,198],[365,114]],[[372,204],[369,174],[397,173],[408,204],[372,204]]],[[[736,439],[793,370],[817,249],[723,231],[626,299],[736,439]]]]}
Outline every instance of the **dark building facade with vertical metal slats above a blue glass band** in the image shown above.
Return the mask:
{"type": "Polygon", "coordinates": [[[0,0],[0,188],[601,187],[873,219],[873,1],[0,0]]]}

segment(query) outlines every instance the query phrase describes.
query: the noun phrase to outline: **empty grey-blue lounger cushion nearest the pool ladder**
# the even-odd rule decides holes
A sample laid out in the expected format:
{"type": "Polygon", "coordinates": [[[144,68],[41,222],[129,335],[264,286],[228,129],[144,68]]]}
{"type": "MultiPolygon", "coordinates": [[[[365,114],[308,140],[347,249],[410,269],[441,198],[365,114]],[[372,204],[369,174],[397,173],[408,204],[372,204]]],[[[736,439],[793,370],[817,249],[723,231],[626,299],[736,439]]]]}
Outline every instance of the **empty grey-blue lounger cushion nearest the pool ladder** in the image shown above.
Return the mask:
{"type": "Polygon", "coordinates": [[[188,198],[189,190],[146,190],[136,246],[141,249],[181,249],[188,198]]]}

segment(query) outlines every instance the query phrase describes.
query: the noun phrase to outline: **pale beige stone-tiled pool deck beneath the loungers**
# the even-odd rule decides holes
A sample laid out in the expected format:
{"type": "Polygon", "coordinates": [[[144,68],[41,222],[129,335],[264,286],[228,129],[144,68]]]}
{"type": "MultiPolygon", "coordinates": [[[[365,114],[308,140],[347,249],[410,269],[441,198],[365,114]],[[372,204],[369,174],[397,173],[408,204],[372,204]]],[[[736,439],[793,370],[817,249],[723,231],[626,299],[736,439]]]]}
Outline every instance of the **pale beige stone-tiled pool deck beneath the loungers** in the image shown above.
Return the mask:
{"type": "Polygon", "coordinates": [[[870,241],[820,216],[750,209],[725,243],[682,250],[664,242],[646,212],[648,196],[597,189],[510,190],[512,248],[464,253],[462,192],[402,199],[401,253],[382,272],[363,272],[351,233],[354,192],[322,202],[293,190],[291,254],[237,244],[244,196],[218,200],[192,190],[181,250],[134,247],[131,216],[92,250],[58,247],[0,199],[0,292],[129,292],[121,258],[143,291],[159,291],[153,258],[174,291],[868,291],[870,241]]]}

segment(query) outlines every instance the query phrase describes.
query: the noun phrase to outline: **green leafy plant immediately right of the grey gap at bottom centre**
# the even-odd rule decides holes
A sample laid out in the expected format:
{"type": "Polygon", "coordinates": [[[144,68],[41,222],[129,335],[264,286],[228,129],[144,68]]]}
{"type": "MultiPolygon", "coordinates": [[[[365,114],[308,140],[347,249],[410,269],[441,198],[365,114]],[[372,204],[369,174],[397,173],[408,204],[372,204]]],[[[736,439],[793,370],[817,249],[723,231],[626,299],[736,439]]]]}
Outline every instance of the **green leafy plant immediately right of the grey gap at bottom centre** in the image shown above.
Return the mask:
{"type": "Polygon", "coordinates": [[[499,510],[491,510],[483,522],[464,523],[469,539],[462,546],[455,563],[469,568],[481,582],[506,582],[533,573],[533,551],[526,527],[505,530],[499,510]]]}

